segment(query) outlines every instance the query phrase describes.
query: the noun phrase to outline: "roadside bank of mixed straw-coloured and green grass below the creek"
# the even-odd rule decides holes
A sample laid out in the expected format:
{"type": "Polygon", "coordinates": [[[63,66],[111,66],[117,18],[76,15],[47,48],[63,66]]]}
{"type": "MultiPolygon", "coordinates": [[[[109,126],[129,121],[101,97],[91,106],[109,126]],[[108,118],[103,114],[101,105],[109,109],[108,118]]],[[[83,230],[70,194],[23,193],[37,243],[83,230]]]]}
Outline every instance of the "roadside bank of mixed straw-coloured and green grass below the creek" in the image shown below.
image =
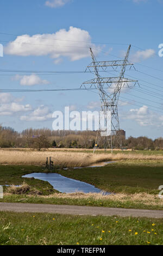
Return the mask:
{"type": "Polygon", "coordinates": [[[116,193],[108,196],[102,196],[98,193],[84,194],[80,192],[70,194],[53,193],[49,196],[5,193],[4,198],[0,199],[0,202],[86,205],[111,208],[163,210],[163,200],[160,199],[158,195],[155,196],[148,193],[116,193]]]}

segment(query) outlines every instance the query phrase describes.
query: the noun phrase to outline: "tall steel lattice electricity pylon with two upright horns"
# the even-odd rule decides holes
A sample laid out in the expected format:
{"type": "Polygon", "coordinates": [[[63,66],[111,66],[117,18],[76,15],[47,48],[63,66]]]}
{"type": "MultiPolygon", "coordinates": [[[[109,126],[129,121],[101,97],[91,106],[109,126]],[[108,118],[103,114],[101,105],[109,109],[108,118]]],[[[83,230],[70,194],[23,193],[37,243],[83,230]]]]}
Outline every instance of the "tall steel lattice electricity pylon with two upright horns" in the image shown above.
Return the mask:
{"type": "Polygon", "coordinates": [[[99,130],[97,131],[93,153],[97,149],[101,140],[103,140],[105,151],[108,147],[111,148],[112,151],[115,142],[117,142],[117,145],[122,145],[117,108],[118,99],[123,87],[131,88],[137,83],[136,80],[124,77],[127,66],[129,69],[134,68],[133,64],[128,62],[130,47],[131,46],[129,45],[126,57],[123,60],[102,62],[98,62],[96,60],[95,55],[90,48],[92,62],[87,66],[86,70],[92,72],[93,69],[93,73],[96,75],[96,78],[84,82],[81,87],[89,90],[95,87],[98,90],[101,100],[101,113],[104,117],[104,125],[101,124],[101,119],[99,118],[99,130]],[[118,77],[101,77],[99,75],[99,71],[106,71],[109,68],[116,71],[118,68],[121,68],[120,75],[118,77]],[[111,87],[112,84],[114,87],[111,87]]]}

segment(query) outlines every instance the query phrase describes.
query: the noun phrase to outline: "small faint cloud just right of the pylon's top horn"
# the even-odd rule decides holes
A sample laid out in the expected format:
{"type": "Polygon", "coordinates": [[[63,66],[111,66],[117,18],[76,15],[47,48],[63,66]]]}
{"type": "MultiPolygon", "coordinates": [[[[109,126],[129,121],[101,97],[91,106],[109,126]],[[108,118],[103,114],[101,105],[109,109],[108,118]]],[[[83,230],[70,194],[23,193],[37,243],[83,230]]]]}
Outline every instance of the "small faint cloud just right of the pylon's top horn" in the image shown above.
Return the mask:
{"type": "Polygon", "coordinates": [[[155,54],[155,51],[153,49],[137,51],[133,55],[131,55],[130,59],[132,62],[140,62],[141,60],[145,60],[153,57],[154,54],[155,54]]]}

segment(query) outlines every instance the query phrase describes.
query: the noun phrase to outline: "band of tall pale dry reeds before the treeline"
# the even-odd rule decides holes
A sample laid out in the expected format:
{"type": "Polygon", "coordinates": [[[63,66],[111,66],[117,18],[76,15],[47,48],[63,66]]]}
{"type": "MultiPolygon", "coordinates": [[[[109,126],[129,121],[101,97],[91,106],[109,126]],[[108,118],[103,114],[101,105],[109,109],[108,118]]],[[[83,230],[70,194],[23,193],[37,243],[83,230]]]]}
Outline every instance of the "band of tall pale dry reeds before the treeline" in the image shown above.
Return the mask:
{"type": "Polygon", "coordinates": [[[37,165],[45,164],[46,157],[52,157],[54,164],[67,167],[84,167],[98,162],[116,160],[163,160],[163,155],[143,155],[133,153],[91,154],[72,151],[24,151],[0,150],[0,164],[37,165]]]}

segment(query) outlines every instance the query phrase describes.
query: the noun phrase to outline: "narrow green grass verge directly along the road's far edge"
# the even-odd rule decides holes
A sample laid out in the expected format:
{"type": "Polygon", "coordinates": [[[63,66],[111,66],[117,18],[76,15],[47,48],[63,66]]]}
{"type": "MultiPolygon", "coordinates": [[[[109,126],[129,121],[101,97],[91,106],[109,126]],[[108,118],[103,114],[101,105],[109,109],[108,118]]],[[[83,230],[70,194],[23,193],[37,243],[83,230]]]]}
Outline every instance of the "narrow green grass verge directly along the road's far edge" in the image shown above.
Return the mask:
{"type": "Polygon", "coordinates": [[[95,199],[88,198],[55,198],[55,197],[40,197],[28,196],[23,194],[7,194],[0,202],[4,203],[33,203],[33,204],[58,204],[58,205],[86,205],[124,209],[148,209],[148,210],[163,210],[163,205],[160,205],[160,198],[157,197],[153,202],[142,202],[141,200],[133,200],[130,195],[125,201],[121,199],[95,199]]]}

